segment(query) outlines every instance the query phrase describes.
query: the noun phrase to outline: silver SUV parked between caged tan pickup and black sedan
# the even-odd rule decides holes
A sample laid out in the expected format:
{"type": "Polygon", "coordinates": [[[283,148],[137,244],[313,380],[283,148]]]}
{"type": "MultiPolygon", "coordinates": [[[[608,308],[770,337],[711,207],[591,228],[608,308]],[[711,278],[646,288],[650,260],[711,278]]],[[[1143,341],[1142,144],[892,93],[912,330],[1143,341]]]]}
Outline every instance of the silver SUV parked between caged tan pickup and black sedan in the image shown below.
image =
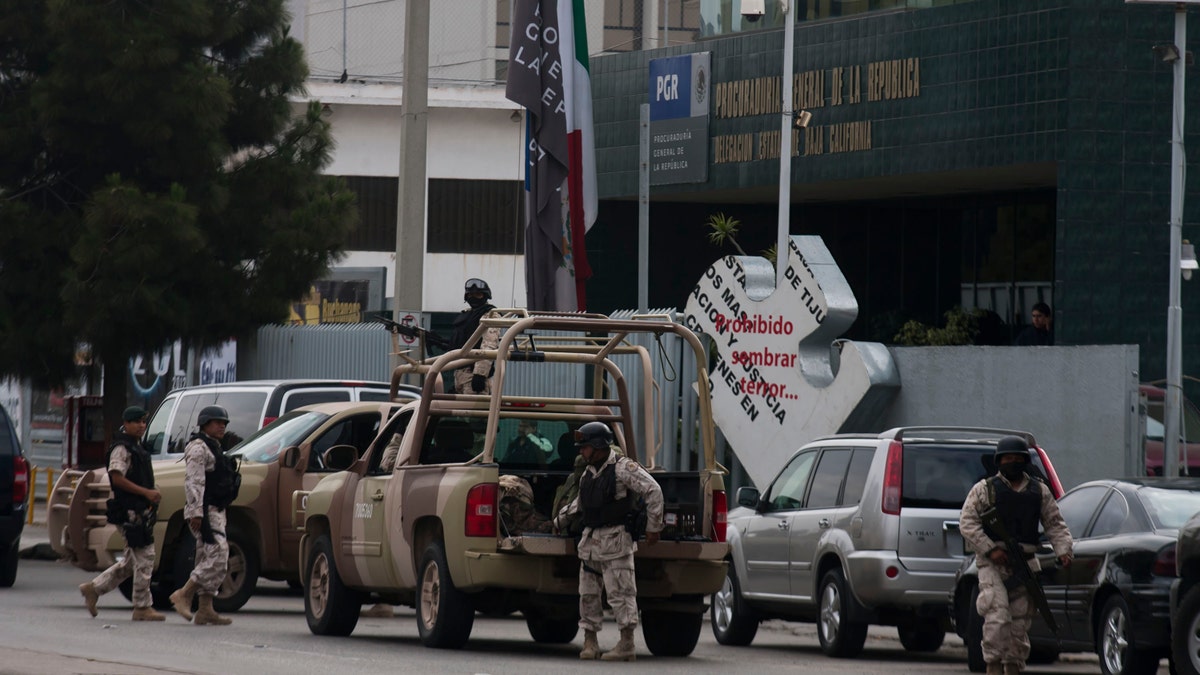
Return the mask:
{"type": "Polygon", "coordinates": [[[869,625],[896,626],[910,651],[936,651],[965,557],[958,521],[996,442],[1018,435],[1055,495],[1062,485],[1032,435],[919,426],[838,435],[802,447],[770,485],[738,490],[731,565],[713,596],[713,634],[749,645],[766,619],[815,621],[829,656],[857,656],[869,625]]]}

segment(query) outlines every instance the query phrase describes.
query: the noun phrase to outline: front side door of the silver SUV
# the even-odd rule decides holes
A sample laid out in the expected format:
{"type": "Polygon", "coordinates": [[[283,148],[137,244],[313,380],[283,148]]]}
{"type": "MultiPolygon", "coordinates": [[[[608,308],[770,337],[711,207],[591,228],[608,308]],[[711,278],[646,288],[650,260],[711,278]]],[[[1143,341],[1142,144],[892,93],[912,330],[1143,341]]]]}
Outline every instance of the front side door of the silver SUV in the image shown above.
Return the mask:
{"type": "Polygon", "coordinates": [[[767,489],[758,510],[742,534],[745,579],[738,579],[746,596],[784,598],[791,596],[792,518],[804,504],[804,491],[817,459],[817,448],[791,459],[767,489]]]}

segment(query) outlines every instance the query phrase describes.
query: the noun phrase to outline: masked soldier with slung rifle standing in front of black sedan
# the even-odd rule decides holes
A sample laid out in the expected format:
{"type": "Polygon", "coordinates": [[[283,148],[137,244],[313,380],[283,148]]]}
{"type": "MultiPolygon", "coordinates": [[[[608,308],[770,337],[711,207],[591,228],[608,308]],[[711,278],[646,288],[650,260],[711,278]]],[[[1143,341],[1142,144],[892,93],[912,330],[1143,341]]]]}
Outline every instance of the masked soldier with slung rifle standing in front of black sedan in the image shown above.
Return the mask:
{"type": "Polygon", "coordinates": [[[1004,581],[1013,575],[1008,552],[1003,542],[988,531],[979,514],[994,506],[998,509],[1009,534],[1026,551],[1034,574],[1039,569],[1038,560],[1033,557],[1038,522],[1042,522],[1058,563],[1067,567],[1072,558],[1070,531],[1058,513],[1058,502],[1045,483],[1025,472],[1028,461],[1030,448],[1024,438],[1001,438],[996,444],[997,474],[971,488],[959,519],[959,531],[974,548],[979,568],[976,609],[983,616],[983,658],[988,663],[988,675],[1016,675],[1025,669],[1025,659],[1030,656],[1030,623],[1037,608],[1025,586],[1004,586],[1004,581]]]}

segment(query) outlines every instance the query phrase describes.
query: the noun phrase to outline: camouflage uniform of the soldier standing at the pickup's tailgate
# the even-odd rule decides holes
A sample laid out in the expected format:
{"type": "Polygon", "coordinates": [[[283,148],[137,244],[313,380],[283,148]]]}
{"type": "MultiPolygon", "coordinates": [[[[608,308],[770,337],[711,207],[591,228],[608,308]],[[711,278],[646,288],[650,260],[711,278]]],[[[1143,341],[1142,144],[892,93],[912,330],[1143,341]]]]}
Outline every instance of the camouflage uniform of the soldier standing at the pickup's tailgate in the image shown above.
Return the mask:
{"type": "MultiPolygon", "coordinates": [[[[636,461],[619,455],[613,448],[608,459],[600,466],[584,470],[595,476],[607,465],[616,464],[617,494],[614,498],[624,498],[629,490],[646,500],[647,532],[662,531],[662,489],[654,478],[636,461]]],[[[556,528],[581,513],[580,497],[563,507],[554,519],[556,528]]],[[[637,626],[637,583],[634,579],[634,543],[624,525],[605,527],[584,527],[576,550],[580,555],[580,627],[584,631],[600,632],[604,620],[604,604],[600,601],[601,589],[608,593],[613,617],[619,628],[637,626]],[[602,585],[601,585],[602,581],[602,585]]]]}

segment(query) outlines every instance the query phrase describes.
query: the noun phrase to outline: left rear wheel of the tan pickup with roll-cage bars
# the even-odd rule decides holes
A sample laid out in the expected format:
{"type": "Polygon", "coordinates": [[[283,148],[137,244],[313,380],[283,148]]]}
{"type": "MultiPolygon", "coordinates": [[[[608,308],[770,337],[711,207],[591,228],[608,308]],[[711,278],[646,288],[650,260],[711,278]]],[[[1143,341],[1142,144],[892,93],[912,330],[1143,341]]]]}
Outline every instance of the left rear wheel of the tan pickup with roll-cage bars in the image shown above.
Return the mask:
{"type": "Polygon", "coordinates": [[[445,545],[433,542],[421,555],[416,599],[416,631],[427,647],[458,649],[470,638],[475,608],[450,579],[445,545]]]}

